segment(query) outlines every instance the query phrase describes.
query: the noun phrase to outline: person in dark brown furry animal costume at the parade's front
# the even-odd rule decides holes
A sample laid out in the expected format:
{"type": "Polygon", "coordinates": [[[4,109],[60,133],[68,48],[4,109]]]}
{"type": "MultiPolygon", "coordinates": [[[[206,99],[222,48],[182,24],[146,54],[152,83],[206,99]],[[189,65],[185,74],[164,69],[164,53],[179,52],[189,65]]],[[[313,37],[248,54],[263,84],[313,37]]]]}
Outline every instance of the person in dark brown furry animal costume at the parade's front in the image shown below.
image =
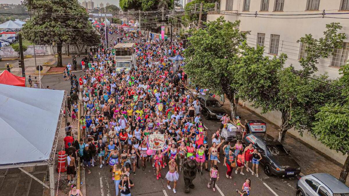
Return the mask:
{"type": "Polygon", "coordinates": [[[188,159],[183,163],[183,178],[184,178],[184,188],[185,193],[190,192],[190,188],[194,188],[193,180],[198,172],[198,164],[196,164],[195,158],[188,157],[188,159]]]}

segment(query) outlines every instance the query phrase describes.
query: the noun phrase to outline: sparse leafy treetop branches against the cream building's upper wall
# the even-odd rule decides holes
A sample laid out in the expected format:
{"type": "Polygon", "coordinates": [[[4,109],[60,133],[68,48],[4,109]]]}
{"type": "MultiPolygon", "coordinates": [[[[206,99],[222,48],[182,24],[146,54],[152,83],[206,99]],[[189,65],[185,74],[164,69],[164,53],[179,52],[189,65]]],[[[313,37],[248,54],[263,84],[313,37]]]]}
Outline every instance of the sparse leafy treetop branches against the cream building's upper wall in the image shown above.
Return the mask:
{"type": "Polygon", "coordinates": [[[326,29],[324,37],[315,39],[311,34],[306,34],[297,41],[304,45],[304,52],[306,53],[305,58],[299,60],[300,65],[303,67],[302,74],[310,75],[315,73],[318,70],[316,64],[319,63],[319,58],[327,58],[334,53],[336,48],[342,48],[346,34],[337,33],[338,30],[342,29],[340,23],[326,24],[326,29]]]}

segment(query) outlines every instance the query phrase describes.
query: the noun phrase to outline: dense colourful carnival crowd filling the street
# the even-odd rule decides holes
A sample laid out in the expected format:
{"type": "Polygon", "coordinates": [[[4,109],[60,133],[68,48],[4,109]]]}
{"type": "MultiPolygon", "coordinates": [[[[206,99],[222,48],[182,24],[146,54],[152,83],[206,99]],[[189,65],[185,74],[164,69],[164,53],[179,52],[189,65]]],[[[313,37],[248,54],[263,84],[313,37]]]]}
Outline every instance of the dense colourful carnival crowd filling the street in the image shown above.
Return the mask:
{"type": "MultiPolygon", "coordinates": [[[[114,40],[112,45],[128,39],[125,32],[113,30],[113,33],[123,39],[114,40]]],[[[101,45],[90,51],[83,59],[86,65],[82,67],[84,75],[79,78],[69,72],[72,69],[70,64],[64,73],[64,79],[70,80],[72,86],[68,97],[69,116],[72,122],[79,121],[81,135],[80,141],[74,141],[70,136],[70,125],[67,125],[65,149],[68,154],[67,174],[71,175],[69,186],[73,184],[72,188],[75,187],[70,179],[74,178],[79,166],[78,159],[86,174],[90,174],[90,168],[97,165],[110,167],[116,195],[120,190],[125,196],[131,195],[134,186],[131,179],[146,167],[156,168],[156,179],[164,175],[168,189],[176,193],[178,170],[182,171],[184,161],[190,158],[196,160],[200,175],[204,170],[209,173],[211,180],[207,187],[213,191],[220,178],[217,163],[220,163],[222,154],[224,158],[221,160],[227,167],[226,178],[232,178],[235,167],[236,174],[245,175],[244,164],[246,162],[247,165],[250,160],[252,170],[256,168],[258,176],[261,158],[258,151],[251,146],[244,149],[241,141],[232,144],[221,139],[220,131],[229,122],[228,114],[221,120],[221,129],[212,135],[203,125],[199,100],[185,90],[187,75],[183,63],[174,73],[169,60],[171,56],[183,55],[182,42],[150,41],[142,37],[134,47],[136,65],[132,65],[127,73],[113,70],[111,48],[105,50],[101,45]],[[83,103],[80,116],[77,115],[79,93],[83,103]],[[149,151],[147,136],[152,134],[164,135],[162,150],[149,151]],[[169,172],[164,174],[162,169],[167,166],[169,172]]],[[[88,175],[86,178],[89,178],[88,175]]],[[[251,181],[246,179],[241,192],[249,194],[250,189],[251,181]]]]}

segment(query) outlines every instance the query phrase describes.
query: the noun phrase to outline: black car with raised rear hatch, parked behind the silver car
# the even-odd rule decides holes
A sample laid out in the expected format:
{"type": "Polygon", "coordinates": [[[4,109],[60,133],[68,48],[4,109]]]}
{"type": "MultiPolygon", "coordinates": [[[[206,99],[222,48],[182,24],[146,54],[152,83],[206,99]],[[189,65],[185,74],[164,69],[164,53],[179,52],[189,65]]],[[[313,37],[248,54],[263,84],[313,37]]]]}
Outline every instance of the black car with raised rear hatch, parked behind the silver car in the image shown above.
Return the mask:
{"type": "Polygon", "coordinates": [[[244,143],[259,148],[262,156],[260,163],[264,165],[264,173],[268,176],[295,176],[300,173],[300,166],[288,154],[283,145],[268,134],[247,134],[244,143]]]}

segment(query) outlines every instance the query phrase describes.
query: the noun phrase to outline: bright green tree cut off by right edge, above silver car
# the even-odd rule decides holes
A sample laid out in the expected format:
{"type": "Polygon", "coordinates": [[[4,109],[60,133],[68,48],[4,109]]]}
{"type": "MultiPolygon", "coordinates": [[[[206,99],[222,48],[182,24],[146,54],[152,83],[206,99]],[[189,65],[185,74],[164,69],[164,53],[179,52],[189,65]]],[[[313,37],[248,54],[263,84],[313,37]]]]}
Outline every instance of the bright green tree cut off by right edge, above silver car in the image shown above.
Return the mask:
{"type": "MultiPolygon", "coordinates": [[[[312,134],[328,148],[342,152],[349,152],[349,64],[340,69],[342,77],[339,83],[342,86],[344,103],[329,103],[321,107],[315,115],[312,134]]],[[[346,183],[349,172],[349,156],[342,167],[339,180],[346,183]]]]}

